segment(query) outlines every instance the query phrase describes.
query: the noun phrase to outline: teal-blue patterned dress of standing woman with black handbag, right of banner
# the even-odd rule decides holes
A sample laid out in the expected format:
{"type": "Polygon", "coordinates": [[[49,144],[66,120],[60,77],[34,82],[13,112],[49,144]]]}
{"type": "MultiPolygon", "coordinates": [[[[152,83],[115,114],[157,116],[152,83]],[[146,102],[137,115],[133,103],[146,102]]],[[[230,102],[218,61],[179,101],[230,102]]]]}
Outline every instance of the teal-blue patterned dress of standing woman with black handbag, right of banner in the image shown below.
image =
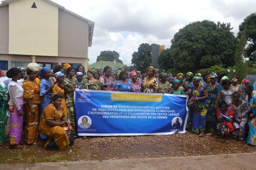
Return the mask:
{"type": "MultiPolygon", "coordinates": [[[[216,102],[217,99],[217,93],[222,92],[222,86],[220,84],[216,84],[214,87],[207,87],[208,89],[208,97],[210,98],[210,104],[209,104],[209,110],[207,111],[207,114],[211,116],[216,116],[216,110],[218,109],[213,109],[213,105],[216,102]]],[[[206,131],[207,132],[217,132],[217,116],[216,116],[216,122],[206,122],[206,131]]]]}

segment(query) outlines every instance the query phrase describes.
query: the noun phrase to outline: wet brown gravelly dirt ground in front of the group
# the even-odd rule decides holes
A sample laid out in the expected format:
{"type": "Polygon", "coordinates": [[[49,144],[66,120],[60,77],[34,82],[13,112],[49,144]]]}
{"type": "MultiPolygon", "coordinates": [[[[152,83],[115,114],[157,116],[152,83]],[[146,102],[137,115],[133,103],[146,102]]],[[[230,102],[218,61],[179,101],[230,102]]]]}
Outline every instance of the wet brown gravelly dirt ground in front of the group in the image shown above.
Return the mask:
{"type": "Polygon", "coordinates": [[[60,151],[44,149],[43,141],[37,145],[23,146],[22,149],[10,149],[8,144],[1,146],[0,164],[256,152],[256,147],[249,146],[246,139],[225,139],[219,135],[199,137],[191,132],[174,135],[77,138],[74,146],[60,151]]]}

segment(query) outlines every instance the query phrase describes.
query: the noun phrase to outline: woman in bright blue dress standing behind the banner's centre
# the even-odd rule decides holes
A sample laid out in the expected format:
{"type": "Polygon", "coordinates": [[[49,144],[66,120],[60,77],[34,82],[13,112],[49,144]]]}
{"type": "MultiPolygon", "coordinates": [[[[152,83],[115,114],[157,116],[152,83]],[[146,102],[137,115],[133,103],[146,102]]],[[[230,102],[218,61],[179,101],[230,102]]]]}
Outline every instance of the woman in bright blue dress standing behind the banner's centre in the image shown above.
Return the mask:
{"type": "MultiPolygon", "coordinates": [[[[137,74],[136,74],[137,76],[137,74]]],[[[127,71],[121,71],[119,74],[119,80],[115,84],[116,91],[119,92],[129,92],[131,89],[130,82],[127,80],[127,71]]]]}

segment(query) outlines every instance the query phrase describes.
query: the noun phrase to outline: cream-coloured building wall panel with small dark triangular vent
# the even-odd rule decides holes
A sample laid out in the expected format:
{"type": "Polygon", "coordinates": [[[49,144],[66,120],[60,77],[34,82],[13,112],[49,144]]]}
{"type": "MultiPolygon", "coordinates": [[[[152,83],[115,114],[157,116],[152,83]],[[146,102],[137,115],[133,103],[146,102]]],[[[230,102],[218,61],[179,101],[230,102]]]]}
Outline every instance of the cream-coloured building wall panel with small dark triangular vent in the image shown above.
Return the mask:
{"type": "Polygon", "coordinates": [[[44,0],[11,2],[9,54],[58,56],[58,11],[44,0]]]}

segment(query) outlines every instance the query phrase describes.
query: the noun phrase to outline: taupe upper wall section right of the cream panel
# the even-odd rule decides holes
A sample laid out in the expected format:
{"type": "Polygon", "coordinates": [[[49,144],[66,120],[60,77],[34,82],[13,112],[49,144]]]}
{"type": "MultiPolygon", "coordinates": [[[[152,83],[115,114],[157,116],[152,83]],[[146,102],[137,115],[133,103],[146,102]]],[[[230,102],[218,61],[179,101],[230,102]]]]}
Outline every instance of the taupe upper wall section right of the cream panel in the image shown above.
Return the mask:
{"type": "Polygon", "coordinates": [[[88,58],[88,22],[59,10],[58,56],[88,58]]]}

